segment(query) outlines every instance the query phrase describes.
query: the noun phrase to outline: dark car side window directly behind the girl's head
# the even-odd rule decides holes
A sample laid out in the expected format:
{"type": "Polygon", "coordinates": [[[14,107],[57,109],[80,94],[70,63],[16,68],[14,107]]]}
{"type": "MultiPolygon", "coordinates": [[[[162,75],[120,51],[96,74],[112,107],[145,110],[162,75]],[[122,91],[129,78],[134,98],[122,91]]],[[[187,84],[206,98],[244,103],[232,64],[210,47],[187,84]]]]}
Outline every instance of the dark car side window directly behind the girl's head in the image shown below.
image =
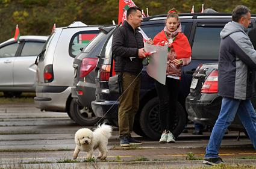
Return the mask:
{"type": "MultiPolygon", "coordinates": [[[[186,23],[186,22],[181,22],[181,28],[182,32],[188,37],[189,31],[190,31],[190,25],[192,23],[186,23]]],[[[151,25],[142,25],[140,28],[143,29],[146,35],[150,38],[154,38],[155,35],[157,35],[159,32],[161,32],[164,28],[165,23],[158,23],[158,24],[151,24],[151,25]]]]}

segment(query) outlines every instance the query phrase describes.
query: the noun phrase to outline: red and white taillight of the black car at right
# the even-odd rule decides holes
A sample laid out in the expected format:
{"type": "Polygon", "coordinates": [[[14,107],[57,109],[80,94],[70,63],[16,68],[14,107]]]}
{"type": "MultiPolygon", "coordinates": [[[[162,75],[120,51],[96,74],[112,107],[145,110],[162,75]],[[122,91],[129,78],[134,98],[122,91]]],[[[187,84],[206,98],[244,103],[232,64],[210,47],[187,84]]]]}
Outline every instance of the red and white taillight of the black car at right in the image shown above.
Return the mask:
{"type": "Polygon", "coordinates": [[[218,92],[218,71],[213,70],[202,85],[201,93],[218,92]]]}

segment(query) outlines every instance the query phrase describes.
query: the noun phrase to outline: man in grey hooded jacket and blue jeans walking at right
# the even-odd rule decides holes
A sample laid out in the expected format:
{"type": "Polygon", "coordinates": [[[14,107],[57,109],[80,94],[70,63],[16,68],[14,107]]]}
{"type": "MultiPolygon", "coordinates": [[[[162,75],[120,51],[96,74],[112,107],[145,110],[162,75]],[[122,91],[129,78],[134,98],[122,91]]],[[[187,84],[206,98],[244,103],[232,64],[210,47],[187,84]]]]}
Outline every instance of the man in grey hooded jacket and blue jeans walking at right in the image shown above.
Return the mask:
{"type": "Polygon", "coordinates": [[[220,32],[218,93],[223,98],[206,148],[205,165],[223,162],[219,147],[236,113],[256,149],[256,113],[250,100],[255,95],[256,51],[247,35],[251,11],[239,5],[233,10],[232,20],[220,32]]]}

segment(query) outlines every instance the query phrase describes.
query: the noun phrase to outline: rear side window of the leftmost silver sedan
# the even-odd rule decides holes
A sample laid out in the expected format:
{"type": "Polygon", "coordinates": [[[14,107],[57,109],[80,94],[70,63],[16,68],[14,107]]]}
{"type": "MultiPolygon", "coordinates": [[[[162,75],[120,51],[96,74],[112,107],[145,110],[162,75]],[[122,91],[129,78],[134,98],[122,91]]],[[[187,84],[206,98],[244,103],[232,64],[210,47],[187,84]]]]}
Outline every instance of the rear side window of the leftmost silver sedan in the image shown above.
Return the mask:
{"type": "Polygon", "coordinates": [[[45,43],[43,42],[26,41],[20,56],[21,57],[37,56],[42,51],[44,45],[45,43]]]}

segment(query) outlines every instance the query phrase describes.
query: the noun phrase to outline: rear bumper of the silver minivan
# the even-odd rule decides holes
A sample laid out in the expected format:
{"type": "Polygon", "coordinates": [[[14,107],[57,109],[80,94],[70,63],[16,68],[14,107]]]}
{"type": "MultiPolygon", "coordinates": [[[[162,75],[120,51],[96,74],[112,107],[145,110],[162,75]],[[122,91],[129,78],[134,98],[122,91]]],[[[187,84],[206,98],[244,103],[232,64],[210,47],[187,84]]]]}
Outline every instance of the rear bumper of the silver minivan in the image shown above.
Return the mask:
{"type": "Polygon", "coordinates": [[[71,87],[48,86],[45,88],[45,86],[38,85],[34,103],[36,108],[45,111],[66,112],[66,103],[70,93],[71,87]]]}

